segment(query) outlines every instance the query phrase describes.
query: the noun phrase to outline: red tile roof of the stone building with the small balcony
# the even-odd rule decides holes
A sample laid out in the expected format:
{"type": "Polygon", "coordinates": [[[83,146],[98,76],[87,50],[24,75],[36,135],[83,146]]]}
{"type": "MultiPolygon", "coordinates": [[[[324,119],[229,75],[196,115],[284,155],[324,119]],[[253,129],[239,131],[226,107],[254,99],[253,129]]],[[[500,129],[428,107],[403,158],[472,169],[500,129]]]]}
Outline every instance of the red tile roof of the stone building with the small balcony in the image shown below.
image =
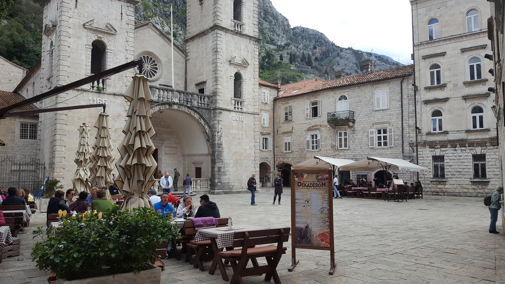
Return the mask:
{"type": "Polygon", "coordinates": [[[343,77],[330,81],[325,81],[323,79],[310,79],[281,86],[281,94],[278,98],[293,97],[319,90],[366,84],[413,75],[414,65],[405,65],[368,74],[343,77]],[[298,91],[296,91],[297,89],[298,91]],[[284,91],[284,93],[282,93],[282,91],[284,91]]]}

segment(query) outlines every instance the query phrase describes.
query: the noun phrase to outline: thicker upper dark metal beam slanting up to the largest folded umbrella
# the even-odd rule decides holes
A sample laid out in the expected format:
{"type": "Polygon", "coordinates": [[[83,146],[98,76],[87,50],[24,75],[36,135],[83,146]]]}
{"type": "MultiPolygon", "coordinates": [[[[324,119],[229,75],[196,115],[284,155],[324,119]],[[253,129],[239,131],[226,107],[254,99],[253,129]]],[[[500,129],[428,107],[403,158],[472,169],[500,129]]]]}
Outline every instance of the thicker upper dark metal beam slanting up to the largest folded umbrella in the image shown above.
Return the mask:
{"type": "MultiPolygon", "coordinates": [[[[122,71],[134,68],[134,67],[136,67],[138,65],[141,65],[141,64],[142,64],[142,60],[141,59],[133,60],[133,61],[130,61],[130,62],[125,63],[123,65],[119,65],[119,66],[116,66],[114,68],[105,70],[103,72],[91,75],[89,77],[82,78],[80,80],[68,83],[66,85],[56,87],[56,88],[54,88],[52,90],[48,90],[48,91],[46,91],[44,93],[39,94],[38,96],[32,97],[30,99],[26,99],[24,101],[21,101],[19,103],[14,104],[14,105],[10,105],[8,107],[0,109],[0,118],[5,117],[6,114],[9,111],[12,111],[12,110],[24,107],[24,106],[31,105],[33,103],[42,101],[42,100],[47,99],[47,98],[51,98],[53,96],[56,96],[59,93],[66,92],[68,90],[80,87],[82,85],[91,83],[93,81],[97,81],[97,80],[100,80],[102,78],[106,78],[106,77],[112,76],[114,74],[117,74],[117,73],[120,73],[122,71]]],[[[21,113],[21,112],[18,112],[18,113],[21,113]]]]}

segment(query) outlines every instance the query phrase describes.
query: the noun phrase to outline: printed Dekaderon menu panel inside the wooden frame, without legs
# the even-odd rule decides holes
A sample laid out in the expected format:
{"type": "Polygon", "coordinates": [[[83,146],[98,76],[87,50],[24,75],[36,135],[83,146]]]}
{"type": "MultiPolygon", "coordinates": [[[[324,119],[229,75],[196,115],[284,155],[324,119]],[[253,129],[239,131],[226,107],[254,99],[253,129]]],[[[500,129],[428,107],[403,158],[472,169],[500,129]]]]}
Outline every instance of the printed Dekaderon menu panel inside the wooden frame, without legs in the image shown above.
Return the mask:
{"type": "Polygon", "coordinates": [[[328,173],[296,173],[295,244],[330,247],[328,173]]]}

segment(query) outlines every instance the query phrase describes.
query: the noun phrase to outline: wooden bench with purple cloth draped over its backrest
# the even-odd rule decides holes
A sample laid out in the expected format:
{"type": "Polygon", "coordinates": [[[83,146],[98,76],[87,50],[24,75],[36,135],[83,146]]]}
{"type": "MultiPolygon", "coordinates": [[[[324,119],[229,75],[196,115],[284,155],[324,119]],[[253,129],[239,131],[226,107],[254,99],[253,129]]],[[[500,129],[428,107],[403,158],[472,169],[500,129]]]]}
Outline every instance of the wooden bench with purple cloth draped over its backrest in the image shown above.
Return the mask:
{"type": "MultiPolygon", "coordinates": [[[[228,226],[228,218],[218,218],[217,227],[228,226]]],[[[198,268],[204,271],[204,261],[211,261],[214,259],[214,250],[211,246],[211,241],[201,241],[195,242],[194,235],[196,234],[196,229],[193,225],[193,221],[184,222],[184,236],[189,236],[191,239],[185,244],[186,245],[186,261],[193,264],[194,268],[198,268]],[[192,258],[192,252],[194,253],[194,261],[192,258]]],[[[182,237],[182,236],[181,236],[182,237]]]]}

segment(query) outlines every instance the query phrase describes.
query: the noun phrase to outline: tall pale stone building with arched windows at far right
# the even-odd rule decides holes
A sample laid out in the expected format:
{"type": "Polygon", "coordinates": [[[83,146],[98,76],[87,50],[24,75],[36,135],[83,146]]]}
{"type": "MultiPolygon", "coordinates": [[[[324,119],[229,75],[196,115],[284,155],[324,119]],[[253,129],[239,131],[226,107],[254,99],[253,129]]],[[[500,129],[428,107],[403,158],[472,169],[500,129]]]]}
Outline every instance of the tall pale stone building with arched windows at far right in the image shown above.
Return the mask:
{"type": "Polygon", "coordinates": [[[484,196],[499,183],[485,0],[411,0],[424,191],[484,196]]]}

